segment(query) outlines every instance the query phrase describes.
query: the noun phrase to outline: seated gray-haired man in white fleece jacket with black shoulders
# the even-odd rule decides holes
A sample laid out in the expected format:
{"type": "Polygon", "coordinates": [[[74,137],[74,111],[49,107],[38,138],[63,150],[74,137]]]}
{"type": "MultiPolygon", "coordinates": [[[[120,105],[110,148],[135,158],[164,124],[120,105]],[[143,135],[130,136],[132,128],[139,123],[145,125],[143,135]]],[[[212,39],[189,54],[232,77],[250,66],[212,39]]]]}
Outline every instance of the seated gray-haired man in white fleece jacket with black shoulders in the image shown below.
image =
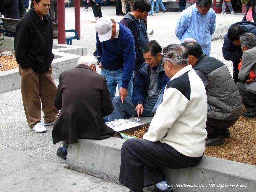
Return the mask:
{"type": "Polygon", "coordinates": [[[170,78],[163,102],[142,139],[129,139],[121,149],[120,183],[131,191],[155,184],[155,192],[173,191],[160,167],[185,168],[198,164],[207,132],[206,92],[199,76],[188,65],[183,46],[163,50],[162,66],[170,78]]]}

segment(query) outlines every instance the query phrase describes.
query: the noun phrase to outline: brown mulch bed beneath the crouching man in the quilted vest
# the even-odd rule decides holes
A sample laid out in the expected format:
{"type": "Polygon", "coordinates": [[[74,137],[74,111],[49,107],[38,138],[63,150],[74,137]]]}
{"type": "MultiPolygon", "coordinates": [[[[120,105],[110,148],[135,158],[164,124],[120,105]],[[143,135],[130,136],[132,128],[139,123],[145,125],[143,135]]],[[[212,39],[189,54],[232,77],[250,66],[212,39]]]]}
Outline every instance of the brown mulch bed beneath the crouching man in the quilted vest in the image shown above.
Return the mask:
{"type": "MultiPolygon", "coordinates": [[[[256,118],[240,116],[229,128],[230,138],[224,139],[221,146],[205,148],[204,155],[256,165],[256,118]]],[[[148,126],[147,126],[148,127],[148,126]]],[[[126,134],[143,139],[147,127],[126,134]]]]}

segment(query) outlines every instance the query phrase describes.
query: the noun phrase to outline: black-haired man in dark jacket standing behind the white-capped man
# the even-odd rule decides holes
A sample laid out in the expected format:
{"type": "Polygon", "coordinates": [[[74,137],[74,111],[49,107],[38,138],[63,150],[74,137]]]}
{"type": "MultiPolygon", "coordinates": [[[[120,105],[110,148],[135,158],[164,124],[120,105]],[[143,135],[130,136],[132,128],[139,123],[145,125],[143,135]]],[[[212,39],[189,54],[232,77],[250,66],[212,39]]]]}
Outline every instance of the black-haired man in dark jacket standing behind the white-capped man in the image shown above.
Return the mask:
{"type": "Polygon", "coordinates": [[[145,62],[143,58],[142,50],[148,42],[147,25],[145,17],[151,10],[151,4],[148,0],[137,0],[134,3],[132,12],[128,12],[120,23],[128,27],[135,39],[135,66],[134,66],[134,78],[133,84],[135,84],[136,77],[139,74],[140,66],[145,62]]]}

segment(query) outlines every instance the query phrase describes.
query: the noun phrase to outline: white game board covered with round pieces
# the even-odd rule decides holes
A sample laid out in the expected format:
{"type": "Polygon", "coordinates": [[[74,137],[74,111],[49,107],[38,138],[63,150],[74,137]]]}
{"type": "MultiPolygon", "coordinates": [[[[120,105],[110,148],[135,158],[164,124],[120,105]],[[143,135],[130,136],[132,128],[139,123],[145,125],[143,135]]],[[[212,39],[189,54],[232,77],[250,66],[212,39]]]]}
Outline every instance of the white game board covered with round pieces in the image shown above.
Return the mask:
{"type": "Polygon", "coordinates": [[[141,125],[140,123],[133,122],[128,119],[116,119],[114,121],[106,122],[106,124],[116,132],[120,132],[141,125]]]}

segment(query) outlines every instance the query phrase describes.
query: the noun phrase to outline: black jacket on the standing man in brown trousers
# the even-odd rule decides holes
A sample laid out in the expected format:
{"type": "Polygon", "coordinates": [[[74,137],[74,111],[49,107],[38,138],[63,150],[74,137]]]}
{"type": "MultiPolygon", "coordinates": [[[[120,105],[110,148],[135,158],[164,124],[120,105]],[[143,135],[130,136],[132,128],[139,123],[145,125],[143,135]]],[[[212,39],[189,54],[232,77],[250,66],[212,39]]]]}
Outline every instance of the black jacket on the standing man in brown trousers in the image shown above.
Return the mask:
{"type": "Polygon", "coordinates": [[[14,50],[17,63],[21,68],[32,68],[37,73],[47,71],[54,59],[53,23],[48,14],[43,20],[39,18],[34,8],[18,21],[14,50]]]}

